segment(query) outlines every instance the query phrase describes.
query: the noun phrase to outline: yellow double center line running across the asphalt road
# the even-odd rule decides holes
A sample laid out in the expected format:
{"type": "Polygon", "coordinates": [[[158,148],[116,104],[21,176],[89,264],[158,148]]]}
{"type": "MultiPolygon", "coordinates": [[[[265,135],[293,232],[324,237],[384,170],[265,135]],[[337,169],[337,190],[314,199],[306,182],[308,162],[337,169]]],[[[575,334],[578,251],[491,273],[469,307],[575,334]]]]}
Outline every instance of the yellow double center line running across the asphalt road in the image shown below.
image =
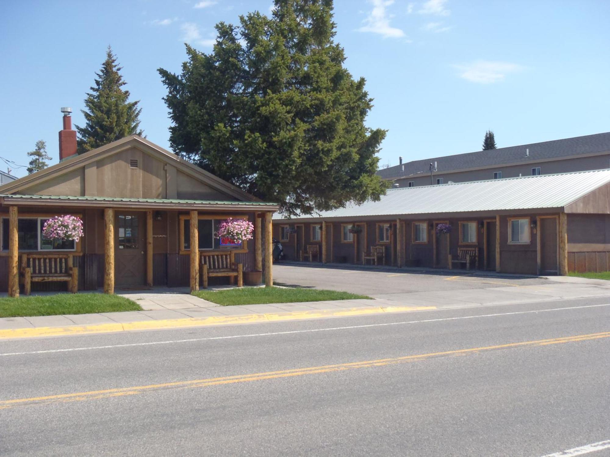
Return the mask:
{"type": "Polygon", "coordinates": [[[509,349],[516,347],[544,346],[550,344],[561,344],[567,342],[587,341],[592,339],[608,338],[610,331],[601,333],[589,333],[588,335],[564,336],[561,338],[538,339],[536,341],[512,342],[508,344],[497,344],[493,346],[473,347],[468,349],[457,349],[443,352],[431,352],[418,355],[406,355],[402,357],[385,358],[378,360],[366,360],[361,362],[340,363],[334,365],[323,365],[317,367],[295,368],[281,371],[268,371],[246,375],[226,376],[220,378],[196,379],[191,381],[177,381],[173,383],[149,384],[147,386],[134,386],[118,389],[104,389],[99,391],[76,392],[73,394],[47,395],[45,397],[30,397],[27,399],[14,399],[0,401],[0,409],[15,408],[25,405],[45,405],[58,402],[79,402],[82,400],[103,399],[108,397],[120,397],[123,395],[143,394],[149,391],[162,389],[201,388],[209,386],[220,386],[224,384],[245,383],[249,381],[263,381],[268,379],[289,378],[294,376],[315,375],[331,373],[343,370],[359,368],[381,367],[390,364],[414,362],[434,357],[467,355],[468,353],[509,349]]]}

